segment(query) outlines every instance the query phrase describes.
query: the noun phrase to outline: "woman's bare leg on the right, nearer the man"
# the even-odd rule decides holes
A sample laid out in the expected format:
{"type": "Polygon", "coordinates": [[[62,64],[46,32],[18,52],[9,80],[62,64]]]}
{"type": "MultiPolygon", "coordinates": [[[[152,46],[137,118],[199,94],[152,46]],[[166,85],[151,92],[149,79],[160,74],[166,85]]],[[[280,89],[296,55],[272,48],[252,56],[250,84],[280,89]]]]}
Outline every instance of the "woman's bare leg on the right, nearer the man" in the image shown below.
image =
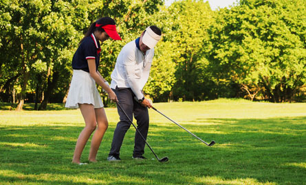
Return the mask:
{"type": "Polygon", "coordinates": [[[98,123],[98,127],[94,133],[94,136],[92,136],[91,138],[91,147],[88,158],[90,162],[96,162],[96,156],[98,153],[98,149],[100,147],[100,143],[102,141],[105,132],[107,131],[107,127],[109,126],[104,108],[96,108],[95,112],[96,112],[96,121],[98,123]]]}

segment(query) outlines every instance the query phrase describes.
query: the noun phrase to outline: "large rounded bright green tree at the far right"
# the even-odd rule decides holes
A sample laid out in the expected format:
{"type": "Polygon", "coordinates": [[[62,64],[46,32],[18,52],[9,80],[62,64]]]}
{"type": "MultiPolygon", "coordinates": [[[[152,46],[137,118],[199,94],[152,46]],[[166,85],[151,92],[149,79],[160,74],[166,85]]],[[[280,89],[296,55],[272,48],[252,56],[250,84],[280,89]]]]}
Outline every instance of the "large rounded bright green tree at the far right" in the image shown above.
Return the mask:
{"type": "Polygon", "coordinates": [[[239,84],[251,99],[290,101],[305,84],[305,1],[243,0],[222,9],[210,27],[216,79],[239,84]]]}

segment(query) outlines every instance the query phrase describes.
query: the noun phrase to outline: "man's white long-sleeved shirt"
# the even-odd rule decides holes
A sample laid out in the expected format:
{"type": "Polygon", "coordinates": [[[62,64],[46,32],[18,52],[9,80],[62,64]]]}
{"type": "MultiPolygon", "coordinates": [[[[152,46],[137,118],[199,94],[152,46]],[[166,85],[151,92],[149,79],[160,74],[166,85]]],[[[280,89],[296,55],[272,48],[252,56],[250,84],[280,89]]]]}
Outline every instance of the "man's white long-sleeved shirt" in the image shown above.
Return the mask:
{"type": "Polygon", "coordinates": [[[111,73],[111,88],[131,88],[138,99],[142,99],[142,88],[148,81],[154,49],[142,51],[136,47],[135,40],[127,43],[120,51],[115,69],[111,73]]]}

